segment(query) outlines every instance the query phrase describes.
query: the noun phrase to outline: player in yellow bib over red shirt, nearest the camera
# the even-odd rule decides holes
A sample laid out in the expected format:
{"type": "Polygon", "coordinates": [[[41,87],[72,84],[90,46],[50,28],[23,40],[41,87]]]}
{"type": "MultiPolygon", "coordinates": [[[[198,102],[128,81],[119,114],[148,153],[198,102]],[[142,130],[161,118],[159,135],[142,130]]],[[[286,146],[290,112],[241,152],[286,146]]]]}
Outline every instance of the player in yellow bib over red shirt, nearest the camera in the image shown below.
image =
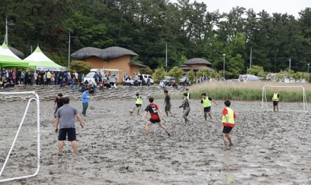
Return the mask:
{"type": "Polygon", "coordinates": [[[227,139],[229,141],[229,145],[232,146],[233,143],[230,137],[230,131],[235,126],[235,112],[230,109],[231,102],[229,100],[225,101],[225,108],[223,109],[223,142],[225,142],[225,149],[229,149],[227,139]]]}

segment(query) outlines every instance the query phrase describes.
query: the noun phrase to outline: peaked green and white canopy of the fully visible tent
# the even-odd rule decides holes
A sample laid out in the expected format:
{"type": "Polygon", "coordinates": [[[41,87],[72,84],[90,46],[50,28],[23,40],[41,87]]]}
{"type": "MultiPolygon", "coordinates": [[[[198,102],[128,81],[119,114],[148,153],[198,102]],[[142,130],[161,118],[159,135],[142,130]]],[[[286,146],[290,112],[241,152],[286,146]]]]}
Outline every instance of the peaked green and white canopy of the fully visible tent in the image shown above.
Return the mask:
{"type": "Polygon", "coordinates": [[[50,58],[44,55],[39,46],[36,47],[34,53],[31,53],[31,55],[25,58],[24,61],[29,62],[29,68],[35,68],[36,66],[63,68],[63,66],[54,63],[50,58]]]}

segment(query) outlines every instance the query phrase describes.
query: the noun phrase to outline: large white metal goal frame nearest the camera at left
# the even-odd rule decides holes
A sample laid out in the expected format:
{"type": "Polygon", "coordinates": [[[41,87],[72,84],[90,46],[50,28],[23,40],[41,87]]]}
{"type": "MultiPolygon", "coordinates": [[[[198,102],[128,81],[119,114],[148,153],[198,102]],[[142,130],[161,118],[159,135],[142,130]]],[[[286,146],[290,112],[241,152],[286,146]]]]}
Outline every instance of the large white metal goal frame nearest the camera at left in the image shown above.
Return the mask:
{"type": "Polygon", "coordinates": [[[21,119],[21,123],[19,125],[19,129],[17,130],[16,132],[16,135],[15,135],[15,138],[14,138],[14,141],[13,141],[13,144],[11,146],[11,149],[9,151],[9,154],[8,156],[6,157],[6,160],[4,162],[4,165],[2,166],[1,168],[1,171],[0,171],[0,177],[2,175],[2,172],[4,171],[4,167],[6,166],[6,163],[8,162],[9,160],[9,157],[11,155],[11,152],[14,148],[14,144],[16,142],[16,139],[17,137],[19,136],[19,132],[21,131],[21,126],[23,125],[24,123],[24,120],[25,120],[25,117],[26,117],[26,114],[27,114],[27,111],[29,109],[29,105],[30,105],[30,102],[31,100],[36,100],[36,108],[37,108],[37,116],[36,116],[36,122],[37,122],[37,134],[38,134],[38,138],[37,138],[37,141],[38,141],[38,159],[37,159],[37,169],[36,169],[36,172],[32,175],[28,175],[28,176],[19,176],[19,177],[14,177],[14,178],[10,178],[10,179],[0,179],[0,183],[1,182],[5,182],[5,181],[13,181],[13,180],[17,180],[17,179],[25,179],[25,178],[29,178],[29,177],[32,177],[32,176],[36,176],[38,173],[39,173],[39,170],[40,170],[40,105],[39,105],[39,95],[36,94],[34,91],[27,91],[27,92],[15,92],[15,93],[3,93],[3,92],[0,92],[0,95],[25,95],[25,94],[31,94],[31,95],[36,95],[36,97],[31,97],[28,101],[28,104],[27,104],[27,107],[26,107],[26,110],[24,112],[24,116],[23,118],[21,119]]]}

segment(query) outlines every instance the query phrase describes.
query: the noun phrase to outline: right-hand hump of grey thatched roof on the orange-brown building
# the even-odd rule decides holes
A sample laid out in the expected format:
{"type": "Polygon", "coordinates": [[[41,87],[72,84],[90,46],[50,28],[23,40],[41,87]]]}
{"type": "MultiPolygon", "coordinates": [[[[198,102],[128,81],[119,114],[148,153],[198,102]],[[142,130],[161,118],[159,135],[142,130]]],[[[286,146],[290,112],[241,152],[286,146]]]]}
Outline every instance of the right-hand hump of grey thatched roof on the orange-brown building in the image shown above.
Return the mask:
{"type": "Polygon", "coordinates": [[[103,60],[109,60],[111,58],[117,58],[120,56],[138,56],[138,54],[121,47],[110,47],[103,49],[104,55],[101,57],[103,60]]]}

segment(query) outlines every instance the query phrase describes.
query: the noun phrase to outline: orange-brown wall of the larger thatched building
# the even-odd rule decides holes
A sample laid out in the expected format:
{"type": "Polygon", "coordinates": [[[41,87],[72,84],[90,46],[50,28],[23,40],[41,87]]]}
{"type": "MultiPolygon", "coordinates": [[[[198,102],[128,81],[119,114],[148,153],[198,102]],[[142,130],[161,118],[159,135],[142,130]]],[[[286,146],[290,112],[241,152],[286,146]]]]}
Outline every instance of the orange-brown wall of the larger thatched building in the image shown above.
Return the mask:
{"type": "MultiPolygon", "coordinates": [[[[108,61],[104,61],[101,58],[98,58],[97,56],[91,56],[84,60],[86,63],[90,63],[93,68],[107,68],[107,69],[118,69],[121,70],[118,72],[118,83],[123,82],[123,75],[127,74],[129,76],[132,76],[133,73],[138,73],[140,70],[140,67],[138,65],[128,65],[131,61],[131,56],[121,56],[118,58],[111,58],[108,61]]],[[[111,72],[113,73],[113,72],[111,72]]]]}

